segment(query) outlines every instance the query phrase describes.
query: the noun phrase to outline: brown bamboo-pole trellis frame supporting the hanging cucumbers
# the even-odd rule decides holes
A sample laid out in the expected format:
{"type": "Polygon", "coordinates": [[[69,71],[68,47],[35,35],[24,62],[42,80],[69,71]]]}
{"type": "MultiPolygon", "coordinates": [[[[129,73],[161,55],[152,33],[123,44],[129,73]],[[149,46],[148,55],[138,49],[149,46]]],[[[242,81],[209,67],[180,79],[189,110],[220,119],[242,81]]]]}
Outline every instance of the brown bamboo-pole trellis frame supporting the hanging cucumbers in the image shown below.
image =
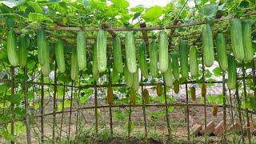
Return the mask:
{"type": "MultiPolygon", "coordinates": [[[[254,15],[256,14],[256,11],[251,11],[249,13],[246,13],[243,15],[243,17],[247,17],[250,15],[254,15]]],[[[222,17],[222,18],[215,18],[214,22],[222,22],[222,21],[226,21],[226,20],[230,20],[231,18],[233,18],[233,16],[226,16],[226,17],[222,17]]],[[[144,39],[146,41],[146,44],[148,44],[148,40],[149,38],[154,38],[154,37],[150,37],[147,35],[147,31],[148,30],[174,30],[175,28],[180,28],[180,27],[188,27],[188,26],[198,26],[198,25],[202,25],[205,22],[190,22],[190,23],[181,23],[181,24],[175,24],[173,26],[155,26],[155,27],[146,27],[146,23],[141,23],[140,26],[138,28],[123,28],[123,27],[119,27],[119,28],[111,28],[110,26],[106,25],[106,24],[102,24],[101,28],[80,28],[80,27],[62,27],[62,26],[57,26],[57,27],[46,27],[46,30],[68,30],[68,31],[78,31],[78,30],[84,30],[84,31],[98,31],[100,29],[104,29],[106,31],[108,31],[111,35],[110,38],[114,38],[116,36],[115,31],[129,31],[129,30],[138,30],[142,32],[142,39],[144,39]]],[[[29,28],[30,30],[38,30],[39,27],[31,27],[29,28]]],[[[21,33],[21,31],[16,30],[16,33],[21,33]]],[[[173,34],[173,31],[171,31],[171,34],[173,34]]],[[[199,34],[199,33],[198,33],[199,34]]],[[[63,37],[62,35],[54,35],[54,34],[50,34],[50,36],[52,37],[63,37]]],[[[182,35],[179,34],[174,34],[171,35],[171,37],[179,37],[182,35]]],[[[65,36],[64,36],[65,38],[65,36]]],[[[69,37],[66,36],[66,38],[73,38],[73,37],[69,37]]],[[[89,38],[89,39],[94,39],[94,38],[89,38]]],[[[170,39],[170,47],[169,49],[171,49],[171,39],[170,39]]],[[[246,97],[246,80],[247,79],[253,79],[254,85],[256,85],[256,75],[255,75],[255,68],[254,68],[254,60],[251,62],[251,69],[252,69],[252,77],[246,77],[246,71],[245,68],[242,67],[242,77],[238,78],[238,80],[242,81],[242,86],[243,86],[243,93],[245,94],[245,99],[246,97]]],[[[27,67],[24,67],[24,74],[27,74],[27,67]]],[[[110,74],[109,74],[110,76],[110,74]]],[[[222,136],[224,143],[226,143],[226,108],[230,108],[231,109],[231,116],[233,117],[233,108],[234,106],[232,106],[232,102],[230,102],[230,105],[226,104],[226,98],[227,98],[227,93],[226,93],[226,78],[225,78],[225,73],[223,73],[222,75],[222,81],[215,81],[215,82],[207,82],[205,80],[205,67],[203,65],[202,62],[202,82],[197,82],[197,81],[186,81],[183,82],[181,84],[186,85],[186,102],[167,102],[167,98],[166,98],[166,85],[163,82],[162,85],[164,86],[164,97],[165,97],[165,103],[164,104],[145,104],[145,102],[142,99],[142,104],[136,104],[136,105],[131,105],[131,104],[127,104],[127,105],[102,105],[102,106],[98,106],[98,95],[97,95],[97,90],[99,87],[107,87],[107,86],[116,86],[116,87],[120,87],[120,86],[126,86],[126,84],[124,83],[112,83],[111,79],[109,77],[109,83],[108,84],[103,84],[103,85],[98,85],[97,82],[94,82],[94,84],[86,84],[86,85],[81,85],[81,83],[79,82],[79,85],[76,86],[75,82],[71,82],[71,85],[69,84],[62,84],[62,83],[58,83],[58,79],[57,79],[57,66],[55,64],[54,66],[54,83],[46,83],[44,82],[44,77],[41,76],[41,82],[34,82],[32,81],[18,81],[14,79],[14,67],[10,68],[10,79],[2,79],[0,80],[0,82],[10,82],[11,84],[11,94],[13,95],[14,89],[15,89],[15,82],[18,83],[22,83],[24,84],[23,89],[24,89],[24,94],[25,94],[25,108],[26,108],[26,117],[25,118],[14,118],[14,103],[11,104],[11,117],[12,120],[10,122],[5,122],[2,123],[2,125],[6,125],[8,123],[11,123],[11,134],[14,134],[14,122],[16,121],[21,121],[21,120],[26,120],[26,139],[27,139],[27,143],[31,143],[31,132],[30,132],[30,106],[28,106],[28,84],[32,84],[32,85],[38,85],[41,86],[41,98],[40,98],[40,103],[41,103],[41,107],[40,107],[40,114],[39,115],[34,115],[34,118],[40,118],[41,120],[41,138],[42,138],[42,142],[44,142],[44,118],[46,116],[50,116],[53,115],[53,131],[52,131],[52,135],[53,135],[53,140],[54,142],[57,141],[56,140],[56,134],[55,134],[55,126],[56,126],[56,115],[57,114],[62,114],[62,118],[63,118],[63,114],[64,113],[70,113],[70,118],[69,118],[69,130],[68,130],[68,142],[70,142],[70,122],[71,122],[71,116],[73,112],[77,112],[77,119],[78,119],[78,112],[79,110],[89,110],[89,109],[94,109],[94,119],[95,119],[95,134],[98,134],[98,109],[101,108],[109,108],[110,110],[110,134],[111,137],[113,137],[113,122],[112,122],[112,108],[113,107],[129,107],[130,108],[130,114],[129,114],[129,120],[128,120],[128,138],[130,138],[130,122],[131,122],[131,108],[132,107],[142,107],[142,111],[143,111],[143,120],[144,120],[144,129],[145,129],[145,137],[148,138],[148,126],[147,126],[147,122],[146,122],[146,108],[149,106],[157,106],[157,107],[162,107],[163,109],[166,110],[166,126],[167,126],[167,130],[168,130],[168,137],[171,137],[171,127],[170,127],[170,116],[169,116],[169,111],[168,111],[168,106],[181,106],[181,107],[185,107],[186,108],[186,126],[187,126],[187,141],[190,142],[190,120],[189,120],[189,108],[190,107],[194,107],[194,106],[202,106],[204,107],[204,115],[205,115],[205,127],[207,124],[207,118],[206,118],[206,107],[212,106],[210,104],[206,103],[206,98],[204,98],[204,103],[189,103],[189,94],[188,94],[188,84],[194,84],[194,83],[222,83],[222,94],[225,98],[223,98],[223,106],[218,106],[218,107],[222,107],[223,108],[223,122],[224,122],[224,134],[222,136]],[[45,114],[44,112],[44,86],[54,86],[54,109],[52,113],[49,114],[45,114]],[[56,94],[57,94],[57,86],[63,86],[63,91],[64,91],[64,96],[65,96],[65,89],[66,87],[70,87],[71,88],[71,99],[70,99],[70,110],[62,110],[62,111],[58,111],[57,110],[57,98],[56,98],[56,94]],[[81,90],[81,88],[94,88],[94,106],[78,106],[76,109],[72,109],[72,102],[73,102],[73,98],[74,98],[74,93],[73,90],[74,88],[78,88],[78,90],[81,90]]],[[[144,89],[144,86],[155,86],[155,84],[152,83],[146,83],[146,82],[141,82],[140,83],[141,89],[144,89]]],[[[230,91],[230,90],[229,90],[230,91]]],[[[248,142],[251,143],[251,138],[250,138],[250,129],[249,129],[249,114],[256,114],[255,111],[250,111],[247,108],[245,110],[242,109],[241,107],[241,98],[239,98],[239,93],[238,93],[238,86],[235,90],[236,94],[235,94],[235,98],[237,101],[237,108],[238,108],[238,118],[239,118],[239,122],[240,122],[240,127],[239,129],[241,130],[242,134],[243,134],[243,128],[242,128],[242,111],[244,111],[246,113],[246,135],[248,138],[248,142]]],[[[80,91],[78,91],[78,97],[79,97],[80,91]]],[[[231,99],[231,94],[230,95],[230,101],[231,99]]],[[[64,98],[63,96],[63,103],[64,103],[64,98]]],[[[256,90],[254,90],[254,96],[256,97],[256,90]]],[[[78,123],[76,125],[76,129],[78,128],[78,123]]],[[[61,131],[60,131],[60,137],[62,136],[62,125],[61,125],[61,131]]],[[[206,138],[206,134],[205,134],[205,138],[206,138]]],[[[207,142],[207,138],[205,139],[205,141],[207,142]]],[[[245,142],[244,137],[242,136],[242,141],[245,142]]],[[[14,142],[11,142],[14,143],[14,142]]]]}

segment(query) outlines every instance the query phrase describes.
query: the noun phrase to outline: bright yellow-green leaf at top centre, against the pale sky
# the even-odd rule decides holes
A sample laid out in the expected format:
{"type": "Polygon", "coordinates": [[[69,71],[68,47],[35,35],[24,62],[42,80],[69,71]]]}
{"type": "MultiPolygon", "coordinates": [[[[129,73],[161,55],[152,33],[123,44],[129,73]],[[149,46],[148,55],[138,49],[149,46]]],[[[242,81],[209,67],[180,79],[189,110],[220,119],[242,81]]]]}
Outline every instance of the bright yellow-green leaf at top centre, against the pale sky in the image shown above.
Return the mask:
{"type": "Polygon", "coordinates": [[[153,22],[157,20],[163,13],[161,6],[153,6],[150,7],[149,10],[146,10],[145,14],[143,14],[143,18],[146,22],[153,22]]]}

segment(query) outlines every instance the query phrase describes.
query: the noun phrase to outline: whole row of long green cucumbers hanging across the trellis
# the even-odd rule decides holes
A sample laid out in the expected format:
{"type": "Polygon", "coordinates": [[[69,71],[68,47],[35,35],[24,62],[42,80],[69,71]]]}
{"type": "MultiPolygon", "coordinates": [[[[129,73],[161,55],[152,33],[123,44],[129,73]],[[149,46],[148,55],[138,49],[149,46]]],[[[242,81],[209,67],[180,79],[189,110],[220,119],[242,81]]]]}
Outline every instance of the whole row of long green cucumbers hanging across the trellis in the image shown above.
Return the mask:
{"type": "MultiPolygon", "coordinates": [[[[236,59],[240,62],[250,62],[254,57],[251,26],[252,23],[250,20],[241,21],[238,18],[230,20],[230,40],[232,48],[230,55],[226,52],[226,38],[224,34],[218,33],[216,36],[217,61],[221,70],[227,71],[227,86],[230,90],[235,89],[236,86],[236,59]]],[[[38,62],[41,65],[42,74],[48,76],[50,74],[50,44],[46,39],[44,28],[38,30],[37,43],[38,62]]],[[[92,50],[92,75],[95,81],[98,80],[99,73],[106,71],[106,43],[106,31],[99,30],[97,40],[92,50]]],[[[17,46],[14,30],[8,31],[7,54],[12,66],[26,66],[29,45],[29,38],[26,38],[25,34],[21,34],[17,46]]],[[[168,50],[169,39],[164,30],[160,31],[157,42],[154,39],[149,42],[148,49],[146,42],[141,42],[138,46],[138,53],[135,45],[134,32],[129,31],[126,33],[124,46],[125,54],[122,54],[122,41],[116,36],[113,41],[112,50],[114,59],[112,79],[113,82],[117,82],[118,74],[124,74],[126,86],[130,88],[131,95],[134,95],[134,91],[137,91],[139,88],[139,70],[143,78],[146,79],[150,76],[156,78],[159,72],[161,72],[166,86],[174,86],[175,93],[179,92],[180,82],[185,82],[189,76],[194,78],[198,77],[197,47],[190,47],[188,41],[180,39],[178,48],[174,48],[173,53],[170,54],[168,50]],[[147,52],[147,50],[149,51],[147,52]],[[123,62],[123,60],[125,61],[123,62]]],[[[66,59],[62,40],[58,40],[55,43],[54,51],[58,71],[65,73],[66,59]]],[[[77,49],[72,51],[70,62],[70,78],[72,80],[78,78],[79,70],[86,70],[86,55],[86,34],[83,31],[78,31],[77,49]]],[[[202,58],[205,66],[209,67],[214,64],[214,35],[208,23],[202,27],[202,58]]],[[[157,86],[158,95],[162,95],[162,87],[160,88],[160,86],[157,86]]],[[[192,87],[191,90],[194,100],[194,87],[192,87]]],[[[202,84],[202,97],[206,97],[206,84],[204,83],[202,84]]]]}

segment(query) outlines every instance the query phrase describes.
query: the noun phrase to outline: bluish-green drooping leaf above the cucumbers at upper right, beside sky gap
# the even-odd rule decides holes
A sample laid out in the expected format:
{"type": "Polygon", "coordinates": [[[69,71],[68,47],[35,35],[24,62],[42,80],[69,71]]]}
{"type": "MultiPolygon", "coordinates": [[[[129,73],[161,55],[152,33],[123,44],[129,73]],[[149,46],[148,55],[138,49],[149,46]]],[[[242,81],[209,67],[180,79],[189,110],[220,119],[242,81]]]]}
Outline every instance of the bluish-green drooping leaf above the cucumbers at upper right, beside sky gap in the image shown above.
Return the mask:
{"type": "Polygon", "coordinates": [[[218,5],[205,5],[199,9],[199,14],[206,19],[206,22],[213,22],[218,11],[218,5]]]}

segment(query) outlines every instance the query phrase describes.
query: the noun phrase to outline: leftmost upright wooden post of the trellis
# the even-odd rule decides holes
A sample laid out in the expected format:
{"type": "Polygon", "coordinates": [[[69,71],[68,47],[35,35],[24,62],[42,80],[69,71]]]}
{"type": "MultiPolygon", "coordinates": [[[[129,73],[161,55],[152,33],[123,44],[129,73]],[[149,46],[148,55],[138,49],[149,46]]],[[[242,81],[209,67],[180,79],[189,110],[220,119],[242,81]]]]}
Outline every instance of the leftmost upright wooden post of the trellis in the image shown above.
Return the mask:
{"type": "MultiPolygon", "coordinates": [[[[14,79],[14,67],[11,67],[10,68],[10,77],[11,77],[11,86],[10,86],[10,89],[11,89],[11,96],[13,97],[14,96],[14,93],[15,93],[15,79],[14,79]]],[[[14,135],[14,118],[15,118],[15,115],[14,115],[14,103],[11,102],[10,104],[10,111],[11,111],[11,122],[10,122],[10,134],[14,135]]],[[[14,141],[10,141],[11,144],[14,144],[14,141]]]]}

